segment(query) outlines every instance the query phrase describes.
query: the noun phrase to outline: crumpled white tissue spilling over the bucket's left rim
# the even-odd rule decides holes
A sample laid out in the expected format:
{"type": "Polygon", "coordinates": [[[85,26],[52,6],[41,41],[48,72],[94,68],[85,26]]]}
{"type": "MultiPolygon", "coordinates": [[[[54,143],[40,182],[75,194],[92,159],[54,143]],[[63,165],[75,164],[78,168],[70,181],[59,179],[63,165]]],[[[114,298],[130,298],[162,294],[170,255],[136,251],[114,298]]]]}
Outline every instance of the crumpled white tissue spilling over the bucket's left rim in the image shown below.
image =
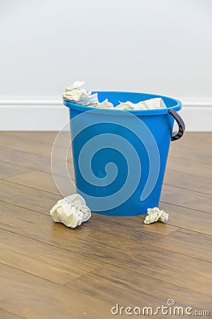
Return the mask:
{"type": "Polygon", "coordinates": [[[98,94],[92,94],[91,91],[86,91],[82,86],[85,81],[75,81],[71,86],[67,86],[62,97],[68,101],[81,104],[83,106],[93,106],[99,103],[98,94]]]}

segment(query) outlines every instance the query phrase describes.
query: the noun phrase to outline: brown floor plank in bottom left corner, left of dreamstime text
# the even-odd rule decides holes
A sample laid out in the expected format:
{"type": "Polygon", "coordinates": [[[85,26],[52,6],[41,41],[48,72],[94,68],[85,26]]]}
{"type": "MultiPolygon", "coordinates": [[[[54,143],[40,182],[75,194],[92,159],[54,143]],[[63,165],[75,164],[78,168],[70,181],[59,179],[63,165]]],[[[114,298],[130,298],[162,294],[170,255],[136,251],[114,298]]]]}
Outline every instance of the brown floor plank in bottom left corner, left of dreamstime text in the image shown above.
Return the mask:
{"type": "Polygon", "coordinates": [[[0,306],[28,319],[106,319],[110,304],[64,286],[0,265],[0,306]]]}

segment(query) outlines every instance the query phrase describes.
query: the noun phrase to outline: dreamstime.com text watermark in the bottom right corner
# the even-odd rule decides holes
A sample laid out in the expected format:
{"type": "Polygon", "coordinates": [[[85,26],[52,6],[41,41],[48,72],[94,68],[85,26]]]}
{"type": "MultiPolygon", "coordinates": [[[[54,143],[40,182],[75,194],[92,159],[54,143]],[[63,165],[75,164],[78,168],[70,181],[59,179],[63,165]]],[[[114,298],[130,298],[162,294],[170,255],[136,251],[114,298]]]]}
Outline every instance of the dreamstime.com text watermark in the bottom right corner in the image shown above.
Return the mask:
{"type": "Polygon", "coordinates": [[[192,307],[180,307],[175,306],[175,300],[172,298],[167,299],[166,305],[158,307],[123,307],[116,306],[112,307],[110,312],[112,315],[209,315],[209,310],[195,310],[192,307]]]}

